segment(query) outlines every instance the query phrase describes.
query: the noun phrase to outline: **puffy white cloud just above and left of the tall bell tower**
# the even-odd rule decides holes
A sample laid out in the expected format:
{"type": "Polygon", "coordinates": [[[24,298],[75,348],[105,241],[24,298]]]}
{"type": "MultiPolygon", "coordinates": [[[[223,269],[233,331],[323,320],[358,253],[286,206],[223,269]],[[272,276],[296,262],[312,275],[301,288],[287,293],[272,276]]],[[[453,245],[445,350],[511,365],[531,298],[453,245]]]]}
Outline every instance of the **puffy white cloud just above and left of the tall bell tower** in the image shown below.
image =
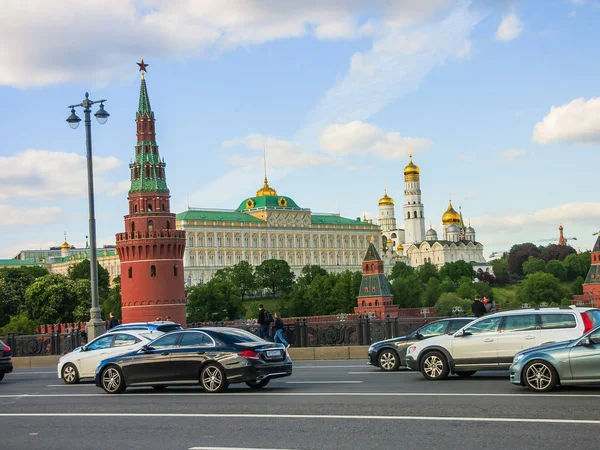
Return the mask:
{"type": "Polygon", "coordinates": [[[411,152],[427,149],[429,139],[401,136],[360,121],[330,125],[319,136],[321,149],[330,155],[376,155],[383,159],[406,158],[411,152]]]}

